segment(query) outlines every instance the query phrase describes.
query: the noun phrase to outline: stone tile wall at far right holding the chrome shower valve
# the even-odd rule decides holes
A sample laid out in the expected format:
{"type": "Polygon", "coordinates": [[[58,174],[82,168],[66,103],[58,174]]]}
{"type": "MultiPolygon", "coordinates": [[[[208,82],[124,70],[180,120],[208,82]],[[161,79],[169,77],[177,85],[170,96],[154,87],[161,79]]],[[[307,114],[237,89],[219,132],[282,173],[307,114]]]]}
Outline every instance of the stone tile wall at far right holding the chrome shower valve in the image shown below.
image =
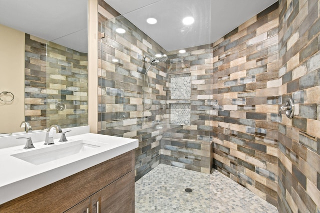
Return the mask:
{"type": "Polygon", "coordinates": [[[293,98],[278,126],[279,212],[320,212],[320,5],[279,1],[279,100],[293,98]]]}

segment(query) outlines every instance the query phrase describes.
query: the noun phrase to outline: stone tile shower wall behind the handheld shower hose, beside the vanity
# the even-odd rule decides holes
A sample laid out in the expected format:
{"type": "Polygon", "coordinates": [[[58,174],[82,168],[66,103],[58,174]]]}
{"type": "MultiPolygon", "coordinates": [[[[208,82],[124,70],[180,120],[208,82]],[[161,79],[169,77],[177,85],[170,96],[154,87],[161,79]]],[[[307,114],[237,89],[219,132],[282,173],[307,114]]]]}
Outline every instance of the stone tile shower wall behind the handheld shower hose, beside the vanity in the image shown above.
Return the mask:
{"type": "MultiPolygon", "coordinates": [[[[123,16],[112,15],[103,0],[99,1],[98,11],[98,29],[105,33],[104,38],[98,39],[98,133],[139,140],[135,150],[138,180],[160,163],[160,139],[167,123],[166,63],[151,66],[147,73],[152,107],[145,110],[142,87],[149,59],[144,60],[143,55],[154,57],[166,52],[123,16]],[[126,32],[116,33],[118,27],[126,32]]],[[[145,91],[149,102],[147,87],[145,91]]]]}

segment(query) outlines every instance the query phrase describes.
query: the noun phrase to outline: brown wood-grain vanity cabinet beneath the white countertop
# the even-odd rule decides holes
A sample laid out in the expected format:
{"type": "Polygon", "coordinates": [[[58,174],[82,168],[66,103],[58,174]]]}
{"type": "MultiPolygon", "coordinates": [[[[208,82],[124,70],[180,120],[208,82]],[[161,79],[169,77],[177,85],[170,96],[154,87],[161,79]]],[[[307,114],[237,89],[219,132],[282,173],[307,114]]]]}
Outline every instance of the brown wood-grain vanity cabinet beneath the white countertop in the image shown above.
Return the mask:
{"type": "Polygon", "coordinates": [[[0,205],[1,213],[97,210],[134,213],[134,150],[0,205]]]}

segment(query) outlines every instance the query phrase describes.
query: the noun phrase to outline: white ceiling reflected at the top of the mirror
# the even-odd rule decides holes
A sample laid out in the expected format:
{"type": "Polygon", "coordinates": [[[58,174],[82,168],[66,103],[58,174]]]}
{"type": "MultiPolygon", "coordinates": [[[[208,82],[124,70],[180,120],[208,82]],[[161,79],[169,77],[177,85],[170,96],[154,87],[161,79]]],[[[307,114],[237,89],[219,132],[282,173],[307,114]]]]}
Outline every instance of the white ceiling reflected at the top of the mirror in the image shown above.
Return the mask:
{"type": "Polygon", "coordinates": [[[0,0],[0,24],[87,52],[87,0],[0,0]]]}

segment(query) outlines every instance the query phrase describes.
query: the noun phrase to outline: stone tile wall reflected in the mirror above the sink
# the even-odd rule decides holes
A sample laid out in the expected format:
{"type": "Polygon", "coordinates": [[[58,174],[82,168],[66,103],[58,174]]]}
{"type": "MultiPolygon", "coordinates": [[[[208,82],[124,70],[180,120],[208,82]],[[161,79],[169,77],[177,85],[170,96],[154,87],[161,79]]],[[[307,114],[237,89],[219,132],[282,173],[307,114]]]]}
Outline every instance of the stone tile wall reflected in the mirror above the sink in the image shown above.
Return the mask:
{"type": "Polygon", "coordinates": [[[88,124],[87,53],[25,34],[24,72],[25,121],[33,130],[88,124]]]}

